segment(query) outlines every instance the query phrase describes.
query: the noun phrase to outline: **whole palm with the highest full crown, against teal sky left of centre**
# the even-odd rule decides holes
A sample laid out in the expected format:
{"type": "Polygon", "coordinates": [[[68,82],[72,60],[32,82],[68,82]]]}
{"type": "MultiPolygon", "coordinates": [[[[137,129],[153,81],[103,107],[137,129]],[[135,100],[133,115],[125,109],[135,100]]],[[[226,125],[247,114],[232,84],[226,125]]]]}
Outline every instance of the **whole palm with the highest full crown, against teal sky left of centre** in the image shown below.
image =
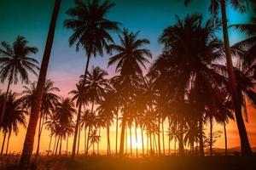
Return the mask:
{"type": "MultiPolygon", "coordinates": [[[[88,3],[78,0],[75,1],[75,7],[69,8],[66,12],[71,18],[64,21],[64,26],[67,29],[73,30],[73,35],[69,38],[69,44],[73,45],[76,43],[77,51],[79,48],[84,48],[87,55],[83,84],[87,77],[90,57],[96,57],[96,54],[102,55],[103,48],[106,48],[108,42],[113,42],[109,31],[119,30],[118,22],[106,18],[110,8],[113,8],[114,5],[114,3],[110,3],[109,1],[103,1],[100,4],[98,0],[88,1],[88,3]]],[[[80,114],[81,106],[79,107],[74,133],[72,157],[75,156],[80,114]]]]}

